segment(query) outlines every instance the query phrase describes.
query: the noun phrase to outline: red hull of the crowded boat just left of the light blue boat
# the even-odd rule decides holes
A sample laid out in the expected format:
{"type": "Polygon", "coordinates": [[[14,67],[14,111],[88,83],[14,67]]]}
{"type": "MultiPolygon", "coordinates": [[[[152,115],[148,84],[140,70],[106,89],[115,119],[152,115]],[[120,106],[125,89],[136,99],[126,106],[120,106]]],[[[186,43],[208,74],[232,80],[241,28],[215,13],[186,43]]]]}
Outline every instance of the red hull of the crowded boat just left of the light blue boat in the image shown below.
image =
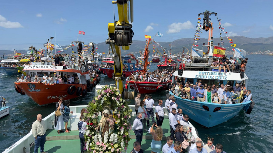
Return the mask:
{"type": "Polygon", "coordinates": [[[171,82],[172,81],[167,81],[167,82],[163,82],[163,83],[129,81],[129,82],[126,82],[126,83],[128,83],[128,86],[132,87],[133,89],[135,89],[140,94],[148,94],[148,93],[157,92],[157,87],[160,86],[160,85],[163,86],[163,90],[169,90],[167,88],[167,83],[171,83],[171,82]]]}

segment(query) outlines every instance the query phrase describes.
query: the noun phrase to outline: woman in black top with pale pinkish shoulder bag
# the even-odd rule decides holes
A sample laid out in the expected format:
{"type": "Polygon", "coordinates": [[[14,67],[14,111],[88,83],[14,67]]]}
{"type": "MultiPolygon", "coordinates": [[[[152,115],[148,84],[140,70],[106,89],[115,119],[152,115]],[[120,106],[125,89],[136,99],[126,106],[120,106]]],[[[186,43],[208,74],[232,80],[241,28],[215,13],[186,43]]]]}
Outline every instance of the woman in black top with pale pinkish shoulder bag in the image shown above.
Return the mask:
{"type": "Polygon", "coordinates": [[[175,131],[174,131],[175,135],[174,135],[174,140],[175,141],[180,141],[182,144],[182,150],[183,152],[185,152],[185,149],[190,145],[187,141],[188,141],[188,134],[190,133],[189,128],[184,125],[177,125],[175,131]]]}

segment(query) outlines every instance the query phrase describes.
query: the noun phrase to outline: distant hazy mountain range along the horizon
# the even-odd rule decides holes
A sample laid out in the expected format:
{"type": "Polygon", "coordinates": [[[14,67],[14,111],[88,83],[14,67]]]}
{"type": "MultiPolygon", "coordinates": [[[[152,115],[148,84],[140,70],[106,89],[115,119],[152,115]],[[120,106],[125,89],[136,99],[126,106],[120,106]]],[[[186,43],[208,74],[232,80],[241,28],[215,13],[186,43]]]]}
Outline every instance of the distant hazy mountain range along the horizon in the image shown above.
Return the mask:
{"type": "MultiPolygon", "coordinates": [[[[247,53],[255,53],[258,51],[273,51],[273,37],[268,37],[268,38],[247,38],[244,36],[235,36],[235,37],[231,37],[233,39],[233,44],[236,44],[238,48],[244,49],[247,53]]],[[[159,43],[162,47],[167,48],[167,50],[169,50],[169,44],[171,44],[171,49],[172,49],[172,53],[177,54],[178,52],[182,52],[183,51],[183,47],[186,47],[190,50],[190,47],[192,46],[192,42],[193,42],[194,38],[182,38],[182,39],[177,39],[174,40],[173,42],[157,42],[159,43]]],[[[232,51],[230,43],[228,42],[227,38],[223,37],[223,41],[224,41],[224,45],[222,45],[224,48],[227,48],[227,51],[232,51]]],[[[197,45],[199,45],[199,49],[203,49],[206,50],[206,47],[202,48],[203,43],[205,43],[205,45],[207,45],[207,39],[205,38],[200,38],[200,40],[198,41],[199,43],[197,45]]],[[[221,39],[220,38],[214,38],[213,39],[213,43],[214,45],[217,45],[218,43],[221,44],[221,39]]],[[[109,45],[106,44],[105,42],[101,42],[96,44],[98,45],[98,52],[102,53],[105,52],[107,54],[108,52],[108,47],[109,45]]],[[[139,50],[140,49],[144,49],[146,45],[146,41],[140,41],[140,40],[133,40],[132,45],[130,46],[129,50],[122,50],[121,53],[122,55],[126,55],[129,53],[134,53],[136,55],[139,55],[139,50]]],[[[157,46],[157,45],[156,45],[157,46]]],[[[62,46],[62,48],[65,48],[66,46],[62,46]]],[[[65,53],[67,54],[71,54],[72,51],[77,53],[77,48],[75,46],[73,46],[72,48],[68,48],[67,50],[64,50],[65,53]],[[73,50],[72,50],[73,48],[73,50]]],[[[162,49],[157,46],[158,50],[162,53],[162,49]]],[[[152,52],[153,50],[153,46],[150,45],[150,51],[152,52]]],[[[57,50],[59,51],[59,50],[57,50]]],[[[26,51],[18,51],[21,53],[26,53],[26,51]]],[[[185,51],[187,52],[187,51],[185,51]]],[[[6,51],[6,50],[0,50],[0,56],[3,55],[3,53],[5,54],[13,54],[13,51],[6,51]]],[[[63,53],[63,52],[62,52],[63,53]]],[[[151,55],[151,53],[150,53],[151,55]]]]}

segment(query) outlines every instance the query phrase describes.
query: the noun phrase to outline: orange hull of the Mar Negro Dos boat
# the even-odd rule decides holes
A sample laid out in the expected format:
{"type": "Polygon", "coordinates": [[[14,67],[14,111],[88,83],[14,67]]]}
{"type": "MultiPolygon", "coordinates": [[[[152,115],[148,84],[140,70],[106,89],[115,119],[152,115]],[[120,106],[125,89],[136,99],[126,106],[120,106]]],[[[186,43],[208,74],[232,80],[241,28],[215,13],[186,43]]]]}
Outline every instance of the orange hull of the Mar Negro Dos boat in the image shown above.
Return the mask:
{"type": "MultiPolygon", "coordinates": [[[[93,82],[91,82],[93,83],[93,82]]],[[[54,102],[58,102],[59,98],[62,97],[64,100],[69,100],[76,98],[82,95],[83,90],[87,88],[87,85],[83,84],[53,84],[53,85],[44,85],[43,83],[33,83],[33,82],[21,82],[15,83],[15,85],[28,95],[34,102],[38,105],[46,105],[54,102]],[[70,86],[75,86],[76,90],[73,94],[68,93],[68,88],[70,86]],[[82,92],[77,93],[77,89],[81,87],[82,92]]]]}

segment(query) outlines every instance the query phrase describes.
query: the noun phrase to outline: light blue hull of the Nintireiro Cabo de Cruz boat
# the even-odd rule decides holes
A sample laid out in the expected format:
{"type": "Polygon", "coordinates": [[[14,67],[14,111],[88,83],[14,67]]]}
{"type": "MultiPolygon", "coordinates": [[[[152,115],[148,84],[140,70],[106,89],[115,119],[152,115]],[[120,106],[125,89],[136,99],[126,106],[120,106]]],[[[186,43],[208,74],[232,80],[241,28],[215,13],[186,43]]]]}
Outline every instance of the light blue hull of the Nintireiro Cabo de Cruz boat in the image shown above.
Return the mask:
{"type": "MultiPolygon", "coordinates": [[[[171,95],[174,95],[170,92],[171,95]]],[[[176,103],[178,108],[183,110],[184,114],[189,115],[189,117],[195,122],[210,128],[215,125],[219,125],[237,115],[241,109],[247,111],[250,106],[251,101],[247,101],[239,104],[215,104],[215,103],[205,103],[199,101],[190,101],[188,99],[182,99],[180,97],[174,96],[176,98],[176,103]],[[209,111],[205,110],[203,106],[207,106],[209,111]],[[220,107],[219,111],[214,111],[215,108],[220,107]]]]}

